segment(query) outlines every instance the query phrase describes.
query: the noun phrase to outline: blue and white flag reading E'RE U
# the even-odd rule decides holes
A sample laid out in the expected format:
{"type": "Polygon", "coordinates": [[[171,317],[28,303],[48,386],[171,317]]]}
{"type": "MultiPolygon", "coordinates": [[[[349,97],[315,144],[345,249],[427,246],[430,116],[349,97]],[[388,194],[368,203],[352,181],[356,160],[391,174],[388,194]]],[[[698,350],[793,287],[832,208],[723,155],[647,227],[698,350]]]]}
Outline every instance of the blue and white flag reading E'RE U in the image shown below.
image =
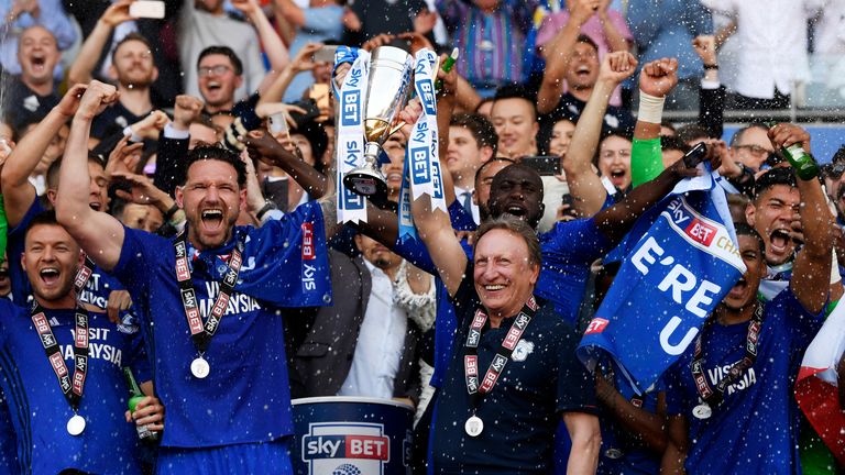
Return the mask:
{"type": "Polygon", "coordinates": [[[610,355],[641,394],[745,273],[720,179],[681,181],[623,242],[625,261],[577,351],[591,371],[610,355]]]}

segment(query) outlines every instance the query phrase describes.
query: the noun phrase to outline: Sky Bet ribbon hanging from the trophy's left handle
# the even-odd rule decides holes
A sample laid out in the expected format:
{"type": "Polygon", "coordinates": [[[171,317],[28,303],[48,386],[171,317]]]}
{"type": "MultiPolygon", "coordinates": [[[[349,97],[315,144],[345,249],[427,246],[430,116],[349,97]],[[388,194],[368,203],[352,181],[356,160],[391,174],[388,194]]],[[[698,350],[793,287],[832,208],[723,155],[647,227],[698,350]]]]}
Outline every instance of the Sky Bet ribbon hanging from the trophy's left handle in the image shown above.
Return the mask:
{"type": "MultiPolygon", "coordinates": [[[[339,60],[336,55],[336,60],[339,60]]],[[[366,198],[343,186],[343,177],[364,164],[364,98],[370,77],[370,53],[360,49],[343,79],[338,102],[337,175],[338,222],[366,222],[366,198]]]]}

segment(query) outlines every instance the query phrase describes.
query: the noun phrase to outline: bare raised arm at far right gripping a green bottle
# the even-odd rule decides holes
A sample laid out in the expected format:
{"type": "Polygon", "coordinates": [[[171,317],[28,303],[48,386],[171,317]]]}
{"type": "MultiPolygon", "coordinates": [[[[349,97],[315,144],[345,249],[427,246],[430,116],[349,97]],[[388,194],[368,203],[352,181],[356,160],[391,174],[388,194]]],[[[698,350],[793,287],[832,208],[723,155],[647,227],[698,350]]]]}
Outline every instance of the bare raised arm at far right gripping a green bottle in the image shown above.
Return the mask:
{"type": "MultiPolygon", "coordinates": [[[[780,123],[769,130],[769,140],[776,147],[800,143],[810,152],[810,134],[798,125],[780,123]]],[[[801,194],[801,227],[804,246],[795,257],[790,288],[798,301],[809,311],[819,313],[827,302],[833,250],[833,217],[819,179],[797,178],[801,194]]]]}

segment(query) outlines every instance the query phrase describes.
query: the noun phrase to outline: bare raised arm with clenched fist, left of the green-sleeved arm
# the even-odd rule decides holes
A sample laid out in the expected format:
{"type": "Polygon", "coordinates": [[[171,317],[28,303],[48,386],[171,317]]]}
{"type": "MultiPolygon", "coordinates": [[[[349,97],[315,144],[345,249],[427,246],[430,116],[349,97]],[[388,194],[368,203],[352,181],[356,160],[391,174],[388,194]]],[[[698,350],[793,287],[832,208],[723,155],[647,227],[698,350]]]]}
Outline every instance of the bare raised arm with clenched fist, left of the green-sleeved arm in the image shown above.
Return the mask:
{"type": "Polygon", "coordinates": [[[580,216],[591,217],[599,212],[607,198],[601,178],[593,170],[593,156],[599,147],[604,112],[611,95],[619,82],[634,74],[637,59],[628,52],[610,53],[604,56],[599,78],[578,120],[572,142],[563,159],[569,192],[577,197],[573,207],[580,216]]]}

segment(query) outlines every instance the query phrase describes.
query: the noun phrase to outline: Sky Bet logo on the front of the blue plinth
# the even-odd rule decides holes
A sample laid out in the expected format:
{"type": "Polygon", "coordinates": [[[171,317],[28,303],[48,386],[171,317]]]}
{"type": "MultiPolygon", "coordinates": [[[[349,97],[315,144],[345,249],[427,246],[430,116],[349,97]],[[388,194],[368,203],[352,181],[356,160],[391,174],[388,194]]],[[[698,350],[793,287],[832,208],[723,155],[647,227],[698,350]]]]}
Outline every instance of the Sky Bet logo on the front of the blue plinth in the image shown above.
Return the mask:
{"type": "Polygon", "coordinates": [[[303,462],[311,475],[347,472],[378,475],[391,461],[391,439],[378,423],[312,423],[303,435],[303,462]]]}

